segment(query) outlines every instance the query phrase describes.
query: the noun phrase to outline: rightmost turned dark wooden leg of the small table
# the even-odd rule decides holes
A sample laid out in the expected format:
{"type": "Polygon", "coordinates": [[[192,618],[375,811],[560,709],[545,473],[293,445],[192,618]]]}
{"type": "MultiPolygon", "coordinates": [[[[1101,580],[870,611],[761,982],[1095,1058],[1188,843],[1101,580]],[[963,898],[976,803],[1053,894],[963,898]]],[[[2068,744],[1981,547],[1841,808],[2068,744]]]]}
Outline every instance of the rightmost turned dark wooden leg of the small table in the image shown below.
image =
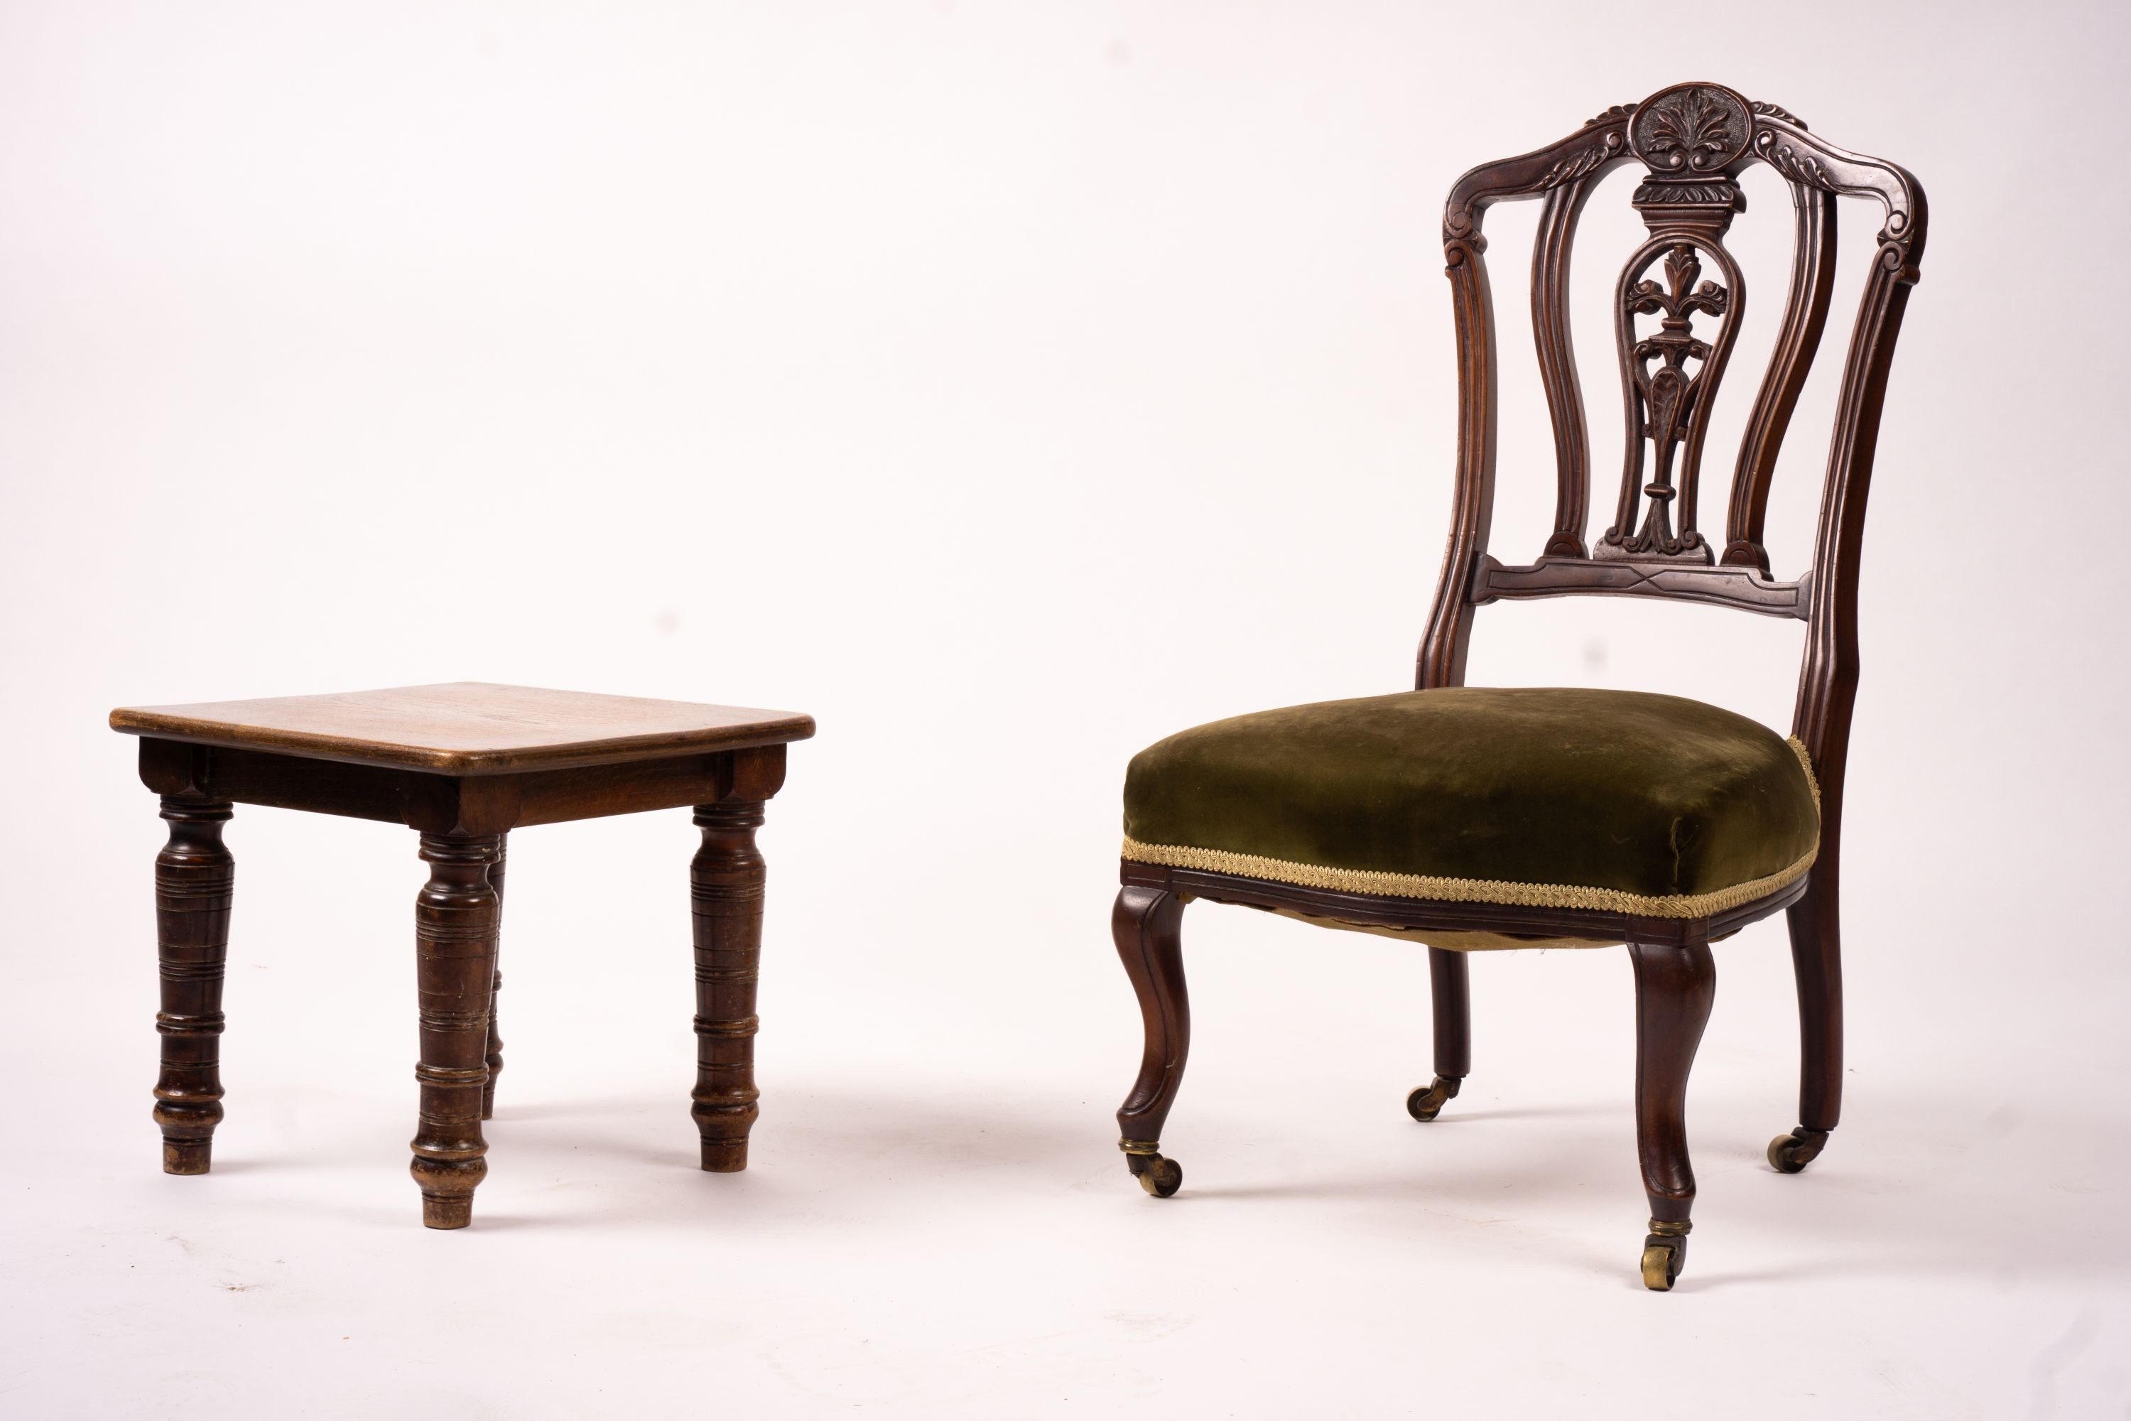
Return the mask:
{"type": "Polygon", "coordinates": [[[695,1093],[688,1114],[703,1136],[703,1167],[748,1167],[754,1089],[754,984],[763,954],[763,882],[754,848],[761,801],[697,805],[703,846],[688,865],[695,916],[695,1093]]]}

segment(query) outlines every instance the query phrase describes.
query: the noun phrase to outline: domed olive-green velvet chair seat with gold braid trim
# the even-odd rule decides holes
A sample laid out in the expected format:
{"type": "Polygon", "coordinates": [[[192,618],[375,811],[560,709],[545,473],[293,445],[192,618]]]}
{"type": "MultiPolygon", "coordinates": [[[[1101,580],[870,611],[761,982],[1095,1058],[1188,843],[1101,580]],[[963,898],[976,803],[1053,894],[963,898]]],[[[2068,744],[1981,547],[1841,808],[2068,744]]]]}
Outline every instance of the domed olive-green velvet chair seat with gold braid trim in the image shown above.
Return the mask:
{"type": "Polygon", "coordinates": [[[1796,880],[1818,839],[1796,741],[1634,690],[1291,705],[1125,773],[1125,859],[1345,893],[1698,918],[1796,880]]]}

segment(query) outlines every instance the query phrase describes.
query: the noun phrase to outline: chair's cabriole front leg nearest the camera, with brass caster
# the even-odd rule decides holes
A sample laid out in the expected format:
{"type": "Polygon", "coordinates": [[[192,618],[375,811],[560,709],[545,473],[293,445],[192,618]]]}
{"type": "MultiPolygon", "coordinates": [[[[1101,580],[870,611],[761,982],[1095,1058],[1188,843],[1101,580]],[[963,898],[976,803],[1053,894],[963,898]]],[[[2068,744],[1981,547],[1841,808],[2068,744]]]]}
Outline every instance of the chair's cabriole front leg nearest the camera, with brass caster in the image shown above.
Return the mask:
{"type": "Polygon", "coordinates": [[[1630,942],[1634,961],[1634,1148],[1649,1195],[1643,1283],[1666,1291],[1688,1257],[1694,1167],[1688,1163],[1688,1072],[1715,1001],[1707,942],[1630,942]]]}

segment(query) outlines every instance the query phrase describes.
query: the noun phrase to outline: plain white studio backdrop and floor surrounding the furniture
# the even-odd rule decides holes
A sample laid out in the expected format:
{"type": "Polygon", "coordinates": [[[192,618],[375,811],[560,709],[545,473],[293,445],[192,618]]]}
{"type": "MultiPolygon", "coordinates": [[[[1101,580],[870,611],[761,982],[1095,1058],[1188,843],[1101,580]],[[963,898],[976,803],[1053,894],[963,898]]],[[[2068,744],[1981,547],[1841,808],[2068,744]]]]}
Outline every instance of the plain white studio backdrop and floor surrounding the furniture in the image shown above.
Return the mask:
{"type": "MultiPolygon", "coordinates": [[[[0,1398],[1558,1415],[1671,1370],[1728,1415],[2120,1415],[2127,38],[2101,4],[6,4],[0,1398]],[[1620,954],[1477,963],[1468,1118],[1421,1136],[1421,954],[1195,908],[1187,1187],[1151,1204],[1108,1121],[1125,758],[1411,682],[1443,192],[1688,77],[1931,194],[1865,565],[1845,1127],[1756,1165],[1794,1093],[1756,927],[1694,1259],[1645,1297],[1620,954]],[[245,807],[217,1172],[156,1172],[160,824],[104,714],[433,680],[820,720],[763,835],[748,1176],[688,1172],[686,814],[514,839],[505,1106],[443,1238],[403,1170],[413,835],[245,807]]],[[[1600,507],[1628,185],[1577,266],[1600,507]]],[[[1790,241],[1745,187],[1718,475],[1790,241]]],[[[1532,219],[1490,217],[1509,556],[1551,511],[1532,219]]],[[[1831,349],[1877,217],[1843,222],[1831,349]]],[[[1796,652],[1541,603],[1481,611],[1470,680],[1784,729],[1796,652]]]]}

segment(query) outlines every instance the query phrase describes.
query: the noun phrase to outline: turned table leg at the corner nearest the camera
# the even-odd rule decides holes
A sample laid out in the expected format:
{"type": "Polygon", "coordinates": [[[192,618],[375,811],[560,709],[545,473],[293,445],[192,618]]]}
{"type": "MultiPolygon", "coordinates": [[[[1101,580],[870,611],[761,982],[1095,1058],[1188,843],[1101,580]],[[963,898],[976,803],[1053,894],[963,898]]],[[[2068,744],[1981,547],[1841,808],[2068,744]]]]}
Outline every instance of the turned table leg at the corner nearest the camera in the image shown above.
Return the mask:
{"type": "Polygon", "coordinates": [[[488,1176],[482,1091],[488,1084],[488,997],[497,976],[497,891],[488,869],[494,833],[424,833],[428,882],[416,897],[416,993],[422,1020],[422,1116],[409,1172],[422,1187],[422,1223],[473,1223],[473,1191],[488,1176]]]}

